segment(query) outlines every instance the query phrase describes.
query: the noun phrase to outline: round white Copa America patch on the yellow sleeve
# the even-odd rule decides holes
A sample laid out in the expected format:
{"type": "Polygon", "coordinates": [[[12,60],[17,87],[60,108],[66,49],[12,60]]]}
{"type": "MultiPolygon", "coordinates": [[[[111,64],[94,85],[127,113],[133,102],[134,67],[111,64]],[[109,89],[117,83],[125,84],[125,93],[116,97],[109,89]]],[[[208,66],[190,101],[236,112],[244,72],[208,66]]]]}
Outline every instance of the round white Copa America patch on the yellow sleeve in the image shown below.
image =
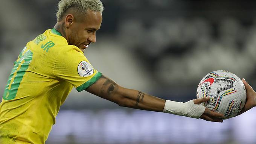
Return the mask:
{"type": "Polygon", "coordinates": [[[93,67],[87,61],[81,61],[77,71],[81,77],[91,76],[94,73],[93,67]]]}

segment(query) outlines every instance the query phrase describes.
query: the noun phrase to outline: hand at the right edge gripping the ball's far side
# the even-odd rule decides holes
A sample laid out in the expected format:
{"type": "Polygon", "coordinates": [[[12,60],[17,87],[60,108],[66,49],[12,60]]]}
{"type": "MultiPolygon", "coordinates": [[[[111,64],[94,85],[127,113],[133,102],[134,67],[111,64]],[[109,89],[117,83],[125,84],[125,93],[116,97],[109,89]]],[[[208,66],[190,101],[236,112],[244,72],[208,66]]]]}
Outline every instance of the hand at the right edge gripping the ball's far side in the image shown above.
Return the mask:
{"type": "Polygon", "coordinates": [[[245,103],[244,108],[239,112],[238,115],[241,115],[242,113],[248,111],[249,109],[256,106],[256,92],[253,90],[253,88],[249,85],[248,82],[245,81],[245,79],[242,79],[242,82],[244,83],[246,93],[247,93],[247,100],[245,103]]]}

